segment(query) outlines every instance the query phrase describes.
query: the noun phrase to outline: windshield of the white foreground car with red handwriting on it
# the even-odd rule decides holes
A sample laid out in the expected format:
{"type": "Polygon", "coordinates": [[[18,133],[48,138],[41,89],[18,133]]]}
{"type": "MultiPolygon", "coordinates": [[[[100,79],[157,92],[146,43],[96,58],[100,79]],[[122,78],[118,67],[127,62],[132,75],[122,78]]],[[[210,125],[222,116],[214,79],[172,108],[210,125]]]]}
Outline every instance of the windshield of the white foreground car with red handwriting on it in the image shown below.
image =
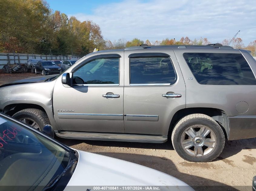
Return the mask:
{"type": "Polygon", "coordinates": [[[0,186],[42,190],[63,172],[70,156],[74,157],[71,151],[0,116],[0,186]]]}

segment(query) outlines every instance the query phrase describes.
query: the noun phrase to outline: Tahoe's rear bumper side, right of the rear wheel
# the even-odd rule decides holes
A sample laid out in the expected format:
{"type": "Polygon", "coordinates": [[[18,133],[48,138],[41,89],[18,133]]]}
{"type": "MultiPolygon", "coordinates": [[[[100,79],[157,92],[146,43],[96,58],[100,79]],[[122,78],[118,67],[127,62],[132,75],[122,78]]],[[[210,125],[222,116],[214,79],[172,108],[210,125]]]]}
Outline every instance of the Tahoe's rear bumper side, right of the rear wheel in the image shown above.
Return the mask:
{"type": "Polygon", "coordinates": [[[256,137],[256,115],[229,116],[230,133],[228,140],[256,137]]]}

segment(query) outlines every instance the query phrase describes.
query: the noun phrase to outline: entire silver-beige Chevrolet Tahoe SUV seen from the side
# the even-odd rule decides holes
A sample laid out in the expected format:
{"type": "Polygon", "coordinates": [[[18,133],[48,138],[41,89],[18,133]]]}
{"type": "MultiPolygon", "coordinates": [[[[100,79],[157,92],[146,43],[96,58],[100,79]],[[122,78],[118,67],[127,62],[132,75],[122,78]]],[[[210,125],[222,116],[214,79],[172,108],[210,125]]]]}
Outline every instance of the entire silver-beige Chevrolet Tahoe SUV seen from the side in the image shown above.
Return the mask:
{"type": "Polygon", "coordinates": [[[188,161],[256,137],[256,61],[246,50],[138,46],[98,51],[58,76],[0,87],[0,108],[62,138],[166,142],[188,161]]]}

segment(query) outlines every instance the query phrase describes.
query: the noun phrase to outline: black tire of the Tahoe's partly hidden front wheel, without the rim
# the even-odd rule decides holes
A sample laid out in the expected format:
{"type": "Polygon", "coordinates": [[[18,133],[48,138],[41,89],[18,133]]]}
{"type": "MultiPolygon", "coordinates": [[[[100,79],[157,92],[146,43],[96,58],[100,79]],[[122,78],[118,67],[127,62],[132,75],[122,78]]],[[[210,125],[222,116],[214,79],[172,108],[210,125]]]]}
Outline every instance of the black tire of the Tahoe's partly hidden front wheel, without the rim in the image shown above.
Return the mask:
{"type": "Polygon", "coordinates": [[[32,121],[38,124],[38,126],[40,127],[39,130],[41,131],[43,130],[45,125],[51,125],[47,114],[44,111],[35,108],[28,108],[18,111],[12,117],[18,120],[24,118],[32,119],[32,121]]]}

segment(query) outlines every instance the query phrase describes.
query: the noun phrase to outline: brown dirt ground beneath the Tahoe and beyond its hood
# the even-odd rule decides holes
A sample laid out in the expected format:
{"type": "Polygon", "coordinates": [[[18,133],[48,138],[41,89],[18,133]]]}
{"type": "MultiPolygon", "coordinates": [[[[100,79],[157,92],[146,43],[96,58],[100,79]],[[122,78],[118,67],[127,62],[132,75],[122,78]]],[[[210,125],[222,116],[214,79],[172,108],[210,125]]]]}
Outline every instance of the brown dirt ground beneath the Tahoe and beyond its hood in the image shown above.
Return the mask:
{"type": "MultiPolygon", "coordinates": [[[[0,74],[0,84],[36,76],[0,74]]],[[[227,141],[221,155],[209,163],[187,162],[174,151],[171,141],[163,144],[84,141],[57,138],[64,144],[92,153],[141,164],[176,177],[195,190],[252,190],[256,176],[256,138],[227,141]]]]}

